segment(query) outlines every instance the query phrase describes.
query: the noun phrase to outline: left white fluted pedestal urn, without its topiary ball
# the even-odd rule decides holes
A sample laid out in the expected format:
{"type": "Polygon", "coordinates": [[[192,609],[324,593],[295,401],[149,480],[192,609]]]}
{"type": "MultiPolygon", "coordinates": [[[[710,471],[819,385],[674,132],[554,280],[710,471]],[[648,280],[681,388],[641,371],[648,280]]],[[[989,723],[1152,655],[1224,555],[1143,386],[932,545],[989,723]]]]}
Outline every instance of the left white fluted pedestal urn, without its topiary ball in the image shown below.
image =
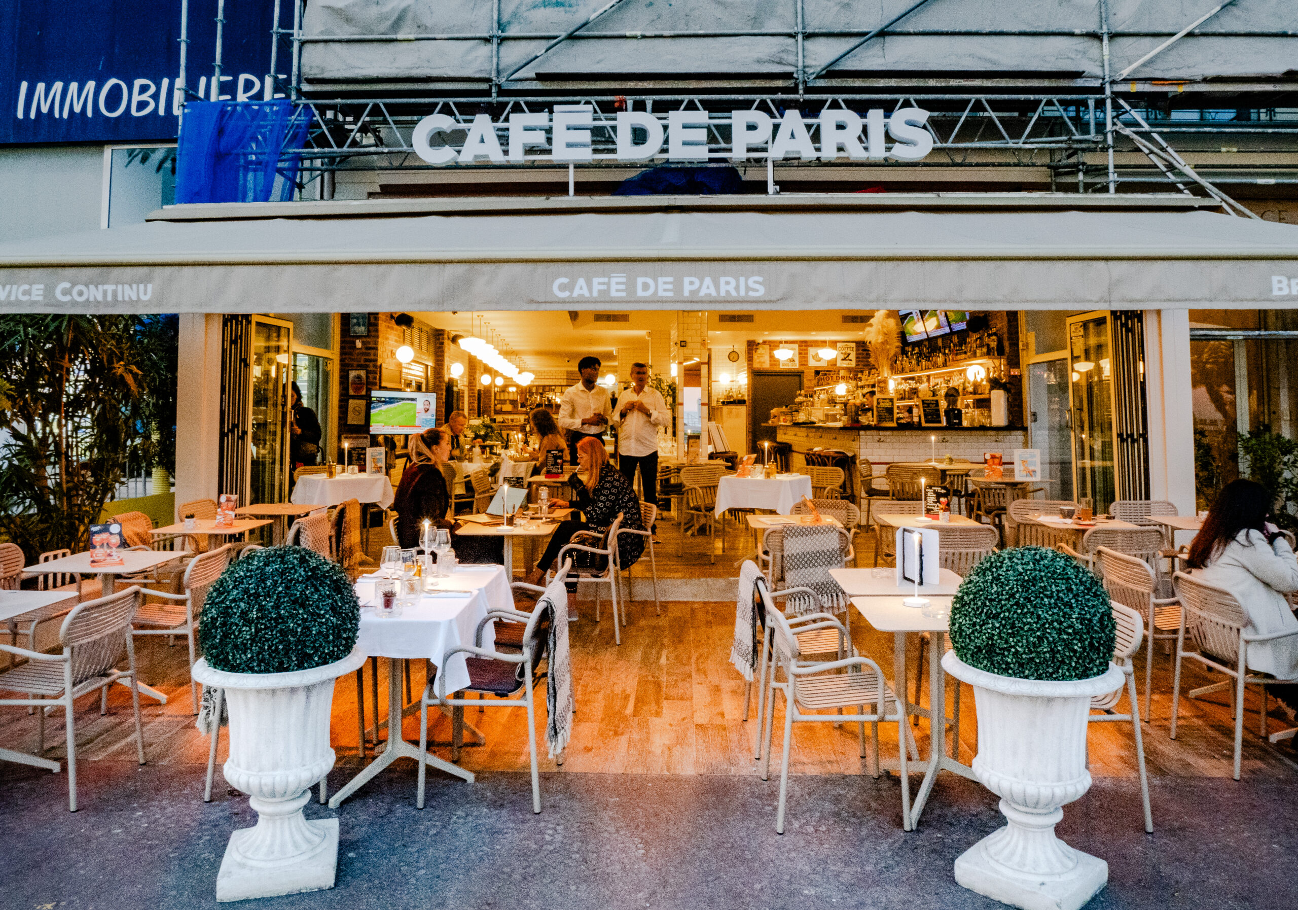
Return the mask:
{"type": "Polygon", "coordinates": [[[341,661],[296,672],[226,672],[200,659],[193,678],[225,689],[230,706],[226,780],[249,796],[257,824],[230,836],[217,874],[217,900],[243,901],[334,887],[337,819],[308,822],[308,788],[334,767],[330,709],[334,680],[365,663],[341,661]]]}

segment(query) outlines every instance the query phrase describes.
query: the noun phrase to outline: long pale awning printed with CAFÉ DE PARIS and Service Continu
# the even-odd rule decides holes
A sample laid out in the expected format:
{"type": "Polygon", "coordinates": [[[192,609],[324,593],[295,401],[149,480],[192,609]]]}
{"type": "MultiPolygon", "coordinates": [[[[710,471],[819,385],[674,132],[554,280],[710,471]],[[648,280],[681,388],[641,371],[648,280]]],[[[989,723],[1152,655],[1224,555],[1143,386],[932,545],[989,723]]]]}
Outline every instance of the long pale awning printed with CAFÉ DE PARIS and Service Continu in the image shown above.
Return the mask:
{"type": "Polygon", "coordinates": [[[1105,204],[1064,195],[909,199],[909,209],[907,197],[861,196],[178,206],[144,225],[0,245],[0,306],[335,313],[1298,304],[1298,226],[1175,210],[1189,205],[1184,196],[1144,208],[1129,196],[1105,204]]]}

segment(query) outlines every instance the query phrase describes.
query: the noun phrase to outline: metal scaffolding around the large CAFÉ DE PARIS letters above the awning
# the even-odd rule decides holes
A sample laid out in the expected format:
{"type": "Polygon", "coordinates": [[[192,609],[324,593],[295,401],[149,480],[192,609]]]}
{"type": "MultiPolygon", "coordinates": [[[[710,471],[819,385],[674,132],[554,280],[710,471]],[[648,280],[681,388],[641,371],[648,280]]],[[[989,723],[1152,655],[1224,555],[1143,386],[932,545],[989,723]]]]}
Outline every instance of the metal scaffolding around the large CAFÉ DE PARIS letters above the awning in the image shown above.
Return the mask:
{"type": "MultiPolygon", "coordinates": [[[[1110,6],[1125,1],[1098,0],[1096,21],[1085,29],[1046,27],[1040,23],[1036,27],[994,29],[976,27],[979,23],[971,21],[957,22],[953,27],[937,27],[933,12],[944,5],[949,8],[955,0],[884,4],[892,9],[880,16],[877,23],[826,27],[820,6],[810,10],[816,13],[819,25],[809,25],[807,12],[813,0],[787,0],[783,4],[754,0],[752,16],[746,17],[749,22],[742,23],[748,27],[687,25],[679,30],[618,31],[615,25],[622,25],[619,16],[630,17],[627,22],[631,25],[641,25],[645,14],[643,0],[593,0],[575,13],[576,21],[552,32],[528,29],[527,22],[515,26],[506,21],[502,18],[501,0],[466,0],[453,10],[459,14],[458,19],[454,16],[449,18],[467,22],[475,16],[479,19],[489,16],[488,27],[449,31],[411,27],[401,31],[408,25],[406,21],[393,19],[383,32],[344,32],[335,27],[324,34],[328,29],[319,22],[314,23],[314,30],[304,25],[305,0],[288,0],[292,3],[292,29],[278,27],[280,3],[276,0],[276,29],[267,84],[280,87],[301,105],[304,114],[309,112],[313,117],[306,147],[286,149],[284,153],[302,156],[302,180],[306,184],[319,180],[321,186],[313,195],[321,197],[332,195],[334,174],[343,169],[432,170],[432,165],[415,154],[411,132],[419,119],[434,113],[448,114],[467,130],[474,117],[484,112],[500,122],[511,113],[557,105],[585,105],[591,108],[594,123],[593,160],[578,166],[588,170],[626,167],[626,164],[617,161],[614,153],[614,126],[617,113],[622,110],[646,112],[661,121],[666,121],[670,110],[706,112],[706,158],[723,162],[731,154],[729,112],[735,109],[758,109],[779,118],[790,108],[814,117],[827,108],[864,112],[872,108],[896,110],[920,106],[931,114],[925,129],[932,135],[935,152],[919,165],[922,169],[962,167],[976,180],[977,170],[989,165],[1044,167],[1050,175],[1050,188],[1055,191],[1076,188],[1079,192],[1115,193],[1124,184],[1141,188],[1150,184],[1166,186],[1188,195],[1214,197],[1232,214],[1255,217],[1228,196],[1221,186],[1298,183],[1298,167],[1284,162],[1195,166],[1186,160],[1186,154],[1192,151],[1245,151],[1262,154],[1295,151],[1298,100],[1294,99],[1294,82],[1285,79],[1279,70],[1269,75],[1263,73],[1260,77],[1247,77],[1240,71],[1205,70],[1202,66],[1206,64],[1199,66],[1202,71],[1197,71],[1194,78],[1157,79],[1149,74],[1158,71],[1160,61],[1173,57],[1181,61],[1176,66],[1184,70],[1188,66],[1184,61],[1195,57],[1184,53],[1186,39],[1233,40],[1238,43],[1241,53],[1258,47],[1275,48],[1276,39],[1285,39],[1282,47],[1288,48],[1293,58],[1293,51],[1298,47],[1298,31],[1271,27],[1285,23],[1284,6],[1258,0],[1249,12],[1253,18],[1241,19],[1242,13],[1238,13],[1236,0],[1225,0],[1215,6],[1203,3],[1203,9],[1197,9],[1197,14],[1188,22],[1173,22],[1175,29],[1141,29],[1138,25],[1114,29],[1110,6]],[[1259,6],[1269,6],[1275,13],[1264,9],[1259,19],[1259,6]],[[588,13],[584,13],[585,8],[589,8],[588,13]],[[1214,27],[1223,18],[1221,14],[1233,8],[1238,21],[1214,27]],[[787,22],[785,12],[792,14],[787,22]],[[925,14],[929,18],[922,18],[925,14]],[[755,27],[752,22],[759,22],[765,27],[755,27]],[[582,73],[544,73],[539,69],[543,62],[553,61],[582,42],[613,42],[614,48],[619,42],[626,43],[630,55],[630,48],[646,40],[667,47],[700,39],[715,42],[716,48],[726,48],[732,56],[735,48],[744,47],[744,43],[787,42],[788,58],[793,66],[790,71],[753,66],[749,71],[718,73],[718,66],[735,62],[723,60],[724,55],[719,52],[718,60],[709,60],[710,71],[693,74],[613,73],[592,77],[582,73]],[[1073,65],[1083,66],[1075,71],[1033,71],[1018,65],[1001,71],[988,71],[984,68],[942,73],[940,70],[944,68],[931,66],[929,73],[897,75],[862,66],[861,62],[853,69],[853,60],[862,60],[863,53],[872,52],[872,48],[889,39],[955,43],[1014,39],[1023,43],[1023,47],[1028,47],[1031,42],[1058,40],[1068,43],[1068,53],[1073,57],[1076,47],[1090,48],[1090,60],[1077,64],[1073,58],[1073,65]],[[291,44],[291,71],[284,75],[276,73],[276,55],[282,42],[291,44]],[[1120,44],[1123,55],[1118,64],[1114,62],[1115,44],[1120,44]],[[458,69],[453,66],[453,73],[443,73],[440,82],[401,79],[367,70],[373,69],[375,58],[400,56],[413,45],[445,48],[448,58],[470,62],[458,69]],[[335,57],[341,56],[345,68],[345,61],[350,58],[348,55],[354,48],[363,49],[362,56],[356,57],[356,78],[331,79],[326,78],[327,74],[321,75],[328,68],[315,65],[308,73],[312,68],[304,66],[304,53],[310,56],[327,51],[335,57]],[[374,48],[388,51],[375,57],[371,53],[374,48]],[[505,53],[502,48],[506,49],[505,53]],[[484,53],[488,49],[489,56],[484,53]],[[814,53],[809,53],[810,51],[814,53]],[[479,57],[489,62],[471,62],[479,57]],[[819,61],[809,62],[814,57],[819,57],[819,61]],[[1118,66],[1121,69],[1112,71],[1118,66]],[[1173,149],[1172,141],[1181,147],[1181,153],[1173,149]],[[1137,153],[1138,157],[1133,160],[1131,153],[1137,153]]],[[[1190,0],[1167,5],[1179,9],[1198,6],[1190,0]]],[[[520,6],[537,5],[524,1],[520,6]]],[[[337,8],[339,4],[335,4],[334,9],[337,8]]],[[[410,4],[409,8],[414,10],[411,16],[418,13],[418,4],[410,4]]],[[[317,16],[318,9],[315,8],[317,16]]],[[[531,12],[539,14],[535,8],[531,12]]],[[[1121,12],[1123,18],[1131,22],[1131,10],[1124,8],[1121,12]]],[[[681,12],[680,16],[685,17],[688,13],[681,12]]],[[[417,22],[415,26],[418,25],[417,22]]],[[[1002,49],[1001,53],[1003,52],[1002,49]]],[[[654,52],[636,49],[635,53],[644,57],[653,56],[654,52]]],[[[779,57],[784,51],[772,53],[779,57]]],[[[1068,53],[1060,55],[1060,58],[1068,57],[1068,53]]],[[[217,68],[219,55],[218,32],[217,68]]],[[[1216,58],[1220,57],[1216,53],[1216,58]]],[[[334,64],[335,70],[337,66],[334,64]]],[[[557,66],[562,69],[562,61],[557,66]]],[[[815,140],[816,125],[809,122],[807,126],[815,140]]],[[[759,160],[767,158],[767,184],[771,192],[776,191],[772,165],[785,171],[823,166],[819,162],[772,162],[761,147],[752,154],[759,160]]],[[[658,160],[666,160],[666,154],[658,156],[658,160]]],[[[650,160],[645,165],[653,162],[650,160]]],[[[910,173],[916,167],[915,162],[871,161],[870,179],[887,180],[888,167],[902,166],[910,173]],[[879,177],[880,173],[885,175],[879,177]]],[[[496,174],[508,169],[554,170],[556,174],[569,171],[571,186],[571,166],[554,162],[544,153],[528,156],[523,164],[489,167],[496,174]]]]}

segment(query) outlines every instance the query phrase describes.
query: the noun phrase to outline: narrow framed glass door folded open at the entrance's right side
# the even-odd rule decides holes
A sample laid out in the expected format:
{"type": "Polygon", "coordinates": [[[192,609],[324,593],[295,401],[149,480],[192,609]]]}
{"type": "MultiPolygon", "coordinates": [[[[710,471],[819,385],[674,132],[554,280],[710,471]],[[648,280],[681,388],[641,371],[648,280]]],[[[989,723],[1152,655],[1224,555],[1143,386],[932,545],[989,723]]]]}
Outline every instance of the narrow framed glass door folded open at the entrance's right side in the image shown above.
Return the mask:
{"type": "Polygon", "coordinates": [[[1114,501],[1112,339],[1107,313],[1068,319],[1068,379],[1072,409],[1075,498],[1092,500],[1096,514],[1114,501]]]}

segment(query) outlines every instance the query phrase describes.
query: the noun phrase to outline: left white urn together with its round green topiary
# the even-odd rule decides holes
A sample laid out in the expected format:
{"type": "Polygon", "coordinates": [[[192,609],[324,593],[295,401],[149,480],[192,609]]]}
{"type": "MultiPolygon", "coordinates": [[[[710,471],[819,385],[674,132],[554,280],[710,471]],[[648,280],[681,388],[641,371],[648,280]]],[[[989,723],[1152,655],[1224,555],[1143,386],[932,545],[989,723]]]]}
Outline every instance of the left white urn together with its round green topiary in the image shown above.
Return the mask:
{"type": "MultiPolygon", "coordinates": [[[[230,836],[217,900],[334,887],[337,819],[308,822],[308,788],[334,767],[334,680],[365,663],[360,604],[343,570],[302,547],[232,563],[208,589],[193,676],[230,706],[226,780],[257,824],[230,836]]],[[[219,723],[219,718],[213,718],[219,723]]]]}

